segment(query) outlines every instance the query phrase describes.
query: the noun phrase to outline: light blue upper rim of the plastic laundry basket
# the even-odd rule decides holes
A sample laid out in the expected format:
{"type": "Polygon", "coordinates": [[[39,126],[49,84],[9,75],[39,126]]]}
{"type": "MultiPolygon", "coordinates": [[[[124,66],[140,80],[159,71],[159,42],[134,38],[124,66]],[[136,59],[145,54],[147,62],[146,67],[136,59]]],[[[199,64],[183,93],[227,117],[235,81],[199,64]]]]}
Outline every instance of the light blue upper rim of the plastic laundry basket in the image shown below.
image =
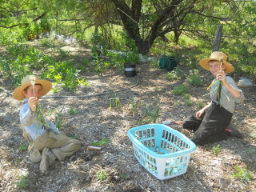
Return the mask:
{"type": "Polygon", "coordinates": [[[190,138],[187,138],[184,134],[182,134],[178,130],[174,130],[170,126],[166,126],[163,124],[146,124],[143,126],[136,126],[136,127],[130,128],[130,130],[128,130],[128,137],[130,138],[130,140],[133,142],[134,145],[138,146],[140,149],[144,150],[146,153],[150,154],[154,158],[162,158],[162,159],[163,158],[174,158],[177,156],[182,156],[184,154],[190,154],[190,153],[194,152],[194,150],[196,150],[196,145],[194,144],[194,142],[192,142],[190,140],[190,138]],[[162,127],[166,128],[167,130],[171,130],[174,134],[178,134],[180,138],[186,139],[186,143],[190,146],[190,149],[181,150],[181,151],[170,153],[170,154],[155,153],[154,151],[150,150],[148,147],[144,146],[141,142],[139,142],[138,139],[135,138],[134,134],[132,133],[136,130],[141,130],[143,127],[146,127],[146,126],[162,126],[162,127]]]}

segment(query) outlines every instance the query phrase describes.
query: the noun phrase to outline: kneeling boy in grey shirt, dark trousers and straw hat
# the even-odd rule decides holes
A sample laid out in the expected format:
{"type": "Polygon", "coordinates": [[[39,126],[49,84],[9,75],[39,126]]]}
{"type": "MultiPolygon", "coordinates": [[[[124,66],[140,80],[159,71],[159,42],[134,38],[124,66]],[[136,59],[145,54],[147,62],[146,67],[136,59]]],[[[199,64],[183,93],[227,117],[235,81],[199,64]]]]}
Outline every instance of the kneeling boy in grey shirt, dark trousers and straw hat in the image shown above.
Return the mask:
{"type": "Polygon", "coordinates": [[[242,137],[230,122],[235,102],[241,103],[245,98],[233,78],[226,76],[234,70],[226,60],[226,54],[214,51],[210,58],[203,58],[199,62],[216,78],[210,85],[211,102],[182,122],[184,129],[194,131],[191,140],[196,145],[226,140],[228,136],[242,137]]]}

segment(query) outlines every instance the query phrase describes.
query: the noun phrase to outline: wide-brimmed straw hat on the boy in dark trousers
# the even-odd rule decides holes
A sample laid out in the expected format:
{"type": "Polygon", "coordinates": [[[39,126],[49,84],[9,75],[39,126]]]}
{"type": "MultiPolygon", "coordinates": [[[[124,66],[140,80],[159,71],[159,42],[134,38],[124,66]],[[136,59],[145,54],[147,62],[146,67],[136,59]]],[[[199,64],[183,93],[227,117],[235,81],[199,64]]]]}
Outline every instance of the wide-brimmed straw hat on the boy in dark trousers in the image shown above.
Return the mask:
{"type": "Polygon", "coordinates": [[[226,65],[226,69],[224,70],[225,73],[230,73],[234,70],[234,66],[232,66],[230,63],[226,62],[227,56],[226,54],[223,54],[219,51],[214,51],[212,54],[210,54],[210,58],[203,58],[199,64],[206,70],[210,70],[209,61],[215,60],[219,62],[223,62],[226,65]]]}

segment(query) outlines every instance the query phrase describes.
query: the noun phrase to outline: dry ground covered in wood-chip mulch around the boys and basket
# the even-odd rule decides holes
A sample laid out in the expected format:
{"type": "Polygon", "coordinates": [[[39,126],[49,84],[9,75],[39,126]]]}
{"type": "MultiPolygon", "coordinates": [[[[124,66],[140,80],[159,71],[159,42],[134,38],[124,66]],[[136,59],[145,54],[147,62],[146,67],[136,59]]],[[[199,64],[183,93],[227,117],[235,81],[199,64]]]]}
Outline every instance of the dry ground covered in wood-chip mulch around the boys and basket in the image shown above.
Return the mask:
{"type": "MultiPolygon", "coordinates": [[[[184,74],[189,73],[186,63],[180,62],[179,67],[184,74]]],[[[234,113],[233,122],[244,138],[229,138],[227,141],[197,146],[191,154],[186,174],[161,181],[143,168],[135,158],[127,131],[143,124],[138,122],[145,114],[145,105],[149,105],[153,111],[161,103],[158,123],[167,119],[182,121],[199,110],[198,102],[209,102],[209,96],[202,95],[207,93],[210,74],[202,70],[204,85],[190,86],[189,94],[194,105],[187,106],[185,98],[171,94],[174,86],[181,85],[184,78],[166,80],[165,74],[168,71],[155,69],[145,63],[137,65],[137,72],[138,77],[129,78],[118,70],[106,70],[101,75],[87,71],[82,76],[88,79],[90,86],[78,87],[78,91],[72,93],[61,91],[54,94],[50,91],[47,94],[100,94],[136,85],[139,80],[137,86],[117,93],[122,111],[109,107],[113,94],[41,100],[40,104],[46,115],[54,120],[54,114],[61,112],[62,130],[68,136],[77,135],[82,142],[82,147],[76,154],[63,162],[55,161],[46,173],[41,173],[38,163],[30,162],[29,153],[20,149],[21,144],[26,145],[18,120],[22,103],[0,91],[0,191],[256,191],[255,87],[242,87],[246,100],[236,106],[234,113]],[[138,105],[135,115],[128,105],[133,97],[138,105]],[[71,108],[78,110],[78,114],[70,114],[71,108]],[[110,142],[101,151],[87,150],[87,146],[102,138],[110,142]],[[214,154],[213,147],[218,144],[221,151],[214,154]],[[234,178],[232,175],[236,165],[246,168],[252,180],[241,181],[234,178]],[[106,173],[106,178],[102,180],[98,174],[101,170],[106,173]],[[19,189],[24,175],[28,186],[19,189]]],[[[3,79],[0,86],[7,89],[3,79]]],[[[180,125],[171,127],[189,138],[192,135],[189,131],[182,130],[180,125]]],[[[242,178],[246,176],[242,175],[242,178]]]]}

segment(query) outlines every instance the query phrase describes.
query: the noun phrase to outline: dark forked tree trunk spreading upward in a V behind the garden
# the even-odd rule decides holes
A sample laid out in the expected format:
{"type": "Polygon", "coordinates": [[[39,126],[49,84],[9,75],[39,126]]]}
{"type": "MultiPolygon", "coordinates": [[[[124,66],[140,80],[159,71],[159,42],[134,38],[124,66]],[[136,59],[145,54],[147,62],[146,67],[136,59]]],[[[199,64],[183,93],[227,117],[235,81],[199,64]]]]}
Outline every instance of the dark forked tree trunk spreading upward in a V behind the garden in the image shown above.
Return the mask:
{"type": "MultiPolygon", "coordinates": [[[[166,5],[158,5],[158,1],[149,1],[157,12],[157,17],[154,18],[154,22],[150,22],[150,26],[147,26],[150,30],[146,34],[140,34],[140,19],[142,19],[142,0],[110,0],[118,10],[118,14],[122,20],[122,24],[126,30],[128,38],[134,39],[138,52],[143,55],[147,55],[150,52],[150,47],[153,45],[154,40],[158,37],[174,31],[179,30],[179,26],[182,26],[182,22],[187,14],[194,8],[195,2],[184,0],[172,0],[166,1],[166,5]],[[130,4],[127,4],[130,2],[130,4]],[[177,27],[178,26],[178,27],[177,27]]],[[[162,1],[164,2],[164,1],[162,1]]],[[[146,1],[145,1],[146,3],[146,1]]],[[[143,21],[144,22],[144,21],[143,21]]],[[[144,27],[144,23],[143,23],[144,27]]],[[[177,31],[175,34],[175,42],[178,42],[178,38],[182,32],[177,31]]]]}

